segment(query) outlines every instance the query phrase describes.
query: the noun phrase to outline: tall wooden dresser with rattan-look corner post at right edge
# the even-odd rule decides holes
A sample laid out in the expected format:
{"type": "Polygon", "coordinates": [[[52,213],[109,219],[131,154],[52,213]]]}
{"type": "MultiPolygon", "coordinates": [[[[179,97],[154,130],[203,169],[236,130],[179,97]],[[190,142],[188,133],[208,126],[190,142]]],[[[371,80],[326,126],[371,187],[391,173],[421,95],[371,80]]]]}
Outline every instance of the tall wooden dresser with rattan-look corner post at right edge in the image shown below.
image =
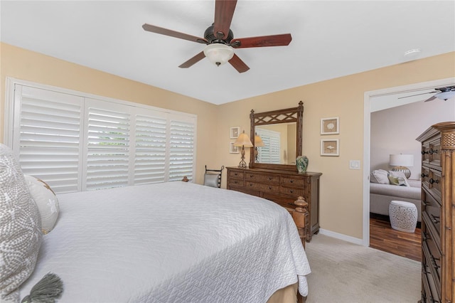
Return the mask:
{"type": "Polygon", "coordinates": [[[455,122],[422,133],[422,301],[455,302],[455,122]]]}

